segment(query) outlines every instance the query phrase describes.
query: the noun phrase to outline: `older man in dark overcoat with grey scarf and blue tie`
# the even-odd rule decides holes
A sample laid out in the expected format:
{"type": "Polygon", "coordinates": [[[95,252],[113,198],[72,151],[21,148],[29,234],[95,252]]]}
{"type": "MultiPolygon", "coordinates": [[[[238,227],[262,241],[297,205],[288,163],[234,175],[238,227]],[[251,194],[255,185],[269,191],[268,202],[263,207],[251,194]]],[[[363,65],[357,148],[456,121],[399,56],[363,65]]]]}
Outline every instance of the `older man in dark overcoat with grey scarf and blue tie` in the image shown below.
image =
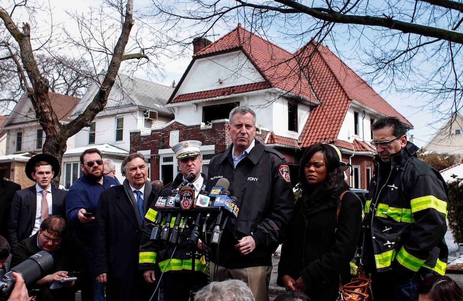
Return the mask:
{"type": "Polygon", "coordinates": [[[123,184],[104,190],[96,208],[93,273],[106,283],[108,300],[149,300],[154,284],[144,281],[137,263],[143,218],[154,192],[142,154],[129,154],[121,171],[123,184]]]}

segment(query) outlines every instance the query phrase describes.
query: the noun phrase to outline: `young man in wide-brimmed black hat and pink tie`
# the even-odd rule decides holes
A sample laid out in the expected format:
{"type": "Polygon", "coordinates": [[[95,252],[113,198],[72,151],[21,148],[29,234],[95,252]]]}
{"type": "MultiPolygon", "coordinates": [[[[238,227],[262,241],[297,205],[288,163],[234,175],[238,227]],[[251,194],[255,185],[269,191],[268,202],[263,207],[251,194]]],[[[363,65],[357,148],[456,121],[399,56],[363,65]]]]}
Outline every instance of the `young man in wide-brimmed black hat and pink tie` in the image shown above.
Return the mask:
{"type": "Polygon", "coordinates": [[[12,250],[18,242],[36,234],[49,215],[64,216],[67,192],[50,185],[58,173],[59,162],[50,154],[35,155],[26,163],[26,176],[37,184],[17,191],[13,198],[8,223],[12,250]]]}

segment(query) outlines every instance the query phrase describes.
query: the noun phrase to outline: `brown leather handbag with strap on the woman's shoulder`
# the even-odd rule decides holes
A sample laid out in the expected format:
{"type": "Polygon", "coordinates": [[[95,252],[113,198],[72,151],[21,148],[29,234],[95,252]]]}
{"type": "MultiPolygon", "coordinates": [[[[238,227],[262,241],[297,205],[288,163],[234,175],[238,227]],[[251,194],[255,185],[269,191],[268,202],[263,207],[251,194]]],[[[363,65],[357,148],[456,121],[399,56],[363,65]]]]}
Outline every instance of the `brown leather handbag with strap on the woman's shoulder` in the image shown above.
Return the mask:
{"type": "MultiPolygon", "coordinates": [[[[343,199],[344,191],[340,195],[340,199],[343,199]]],[[[336,213],[336,223],[338,221],[339,213],[341,212],[341,201],[339,203],[338,211],[336,213]]],[[[371,295],[368,291],[370,287],[370,278],[363,271],[362,267],[357,267],[357,275],[352,277],[349,283],[342,285],[341,277],[339,278],[339,296],[337,301],[368,301],[368,297],[371,295]]]]}

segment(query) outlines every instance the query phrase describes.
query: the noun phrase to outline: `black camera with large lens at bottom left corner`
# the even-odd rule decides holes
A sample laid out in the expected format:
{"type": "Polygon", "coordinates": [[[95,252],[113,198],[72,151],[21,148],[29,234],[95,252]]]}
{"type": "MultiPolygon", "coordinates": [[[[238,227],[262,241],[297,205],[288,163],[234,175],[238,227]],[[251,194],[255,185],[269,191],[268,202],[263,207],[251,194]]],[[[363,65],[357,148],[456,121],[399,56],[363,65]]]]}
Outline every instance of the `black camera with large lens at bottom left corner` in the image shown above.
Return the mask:
{"type": "Polygon", "coordinates": [[[53,266],[53,257],[46,251],[40,251],[11,268],[6,274],[0,270],[0,299],[8,299],[15,286],[16,279],[12,272],[21,274],[26,287],[28,287],[52,271],[53,266]]]}

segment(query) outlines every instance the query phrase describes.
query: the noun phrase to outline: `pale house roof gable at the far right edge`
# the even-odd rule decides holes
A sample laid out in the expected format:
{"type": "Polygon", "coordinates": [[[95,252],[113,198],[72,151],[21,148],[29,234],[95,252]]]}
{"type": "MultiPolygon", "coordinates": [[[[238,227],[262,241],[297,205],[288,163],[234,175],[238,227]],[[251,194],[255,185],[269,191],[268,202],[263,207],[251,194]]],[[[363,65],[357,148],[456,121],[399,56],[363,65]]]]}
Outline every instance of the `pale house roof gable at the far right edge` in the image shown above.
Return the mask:
{"type": "Polygon", "coordinates": [[[424,146],[426,151],[463,157],[463,117],[453,114],[434,137],[424,146]]]}

